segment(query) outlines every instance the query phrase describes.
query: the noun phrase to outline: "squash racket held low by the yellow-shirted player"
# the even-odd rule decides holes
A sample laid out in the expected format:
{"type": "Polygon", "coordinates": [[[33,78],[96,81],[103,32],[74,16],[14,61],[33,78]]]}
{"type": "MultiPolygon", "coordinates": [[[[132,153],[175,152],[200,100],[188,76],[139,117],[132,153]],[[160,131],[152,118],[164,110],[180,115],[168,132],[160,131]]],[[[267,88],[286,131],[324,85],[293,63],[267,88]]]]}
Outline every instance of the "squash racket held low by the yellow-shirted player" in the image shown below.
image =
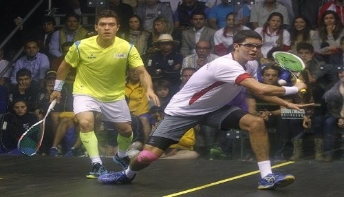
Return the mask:
{"type": "Polygon", "coordinates": [[[50,112],[52,112],[55,105],[56,100],[50,103],[44,118],[38,123],[32,125],[23,133],[23,135],[21,135],[21,138],[19,138],[18,149],[26,156],[32,156],[36,154],[36,152],[39,150],[39,147],[41,147],[44,136],[45,119],[50,112]]]}

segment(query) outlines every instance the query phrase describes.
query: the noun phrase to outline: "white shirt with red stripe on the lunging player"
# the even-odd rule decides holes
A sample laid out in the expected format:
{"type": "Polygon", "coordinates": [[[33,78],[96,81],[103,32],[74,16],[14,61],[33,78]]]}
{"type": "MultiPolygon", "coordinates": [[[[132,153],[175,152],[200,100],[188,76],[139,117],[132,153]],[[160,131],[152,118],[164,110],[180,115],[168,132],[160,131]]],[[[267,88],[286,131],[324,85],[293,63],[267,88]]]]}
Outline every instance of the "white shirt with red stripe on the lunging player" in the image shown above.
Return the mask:
{"type": "Polygon", "coordinates": [[[229,103],[244,88],[238,83],[257,79],[257,61],[245,68],[233,60],[233,54],[221,56],[197,70],[182,90],[175,94],[165,113],[171,116],[197,116],[213,112],[229,103]]]}

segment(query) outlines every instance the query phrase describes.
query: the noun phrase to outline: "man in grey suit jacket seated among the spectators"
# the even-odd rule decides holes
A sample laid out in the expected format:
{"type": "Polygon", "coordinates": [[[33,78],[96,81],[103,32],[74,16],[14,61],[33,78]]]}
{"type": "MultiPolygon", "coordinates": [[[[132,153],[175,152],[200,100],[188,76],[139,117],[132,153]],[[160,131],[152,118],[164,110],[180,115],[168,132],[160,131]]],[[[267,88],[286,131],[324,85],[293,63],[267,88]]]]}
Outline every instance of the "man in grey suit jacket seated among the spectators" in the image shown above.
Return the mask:
{"type": "Polygon", "coordinates": [[[182,48],[180,53],[184,56],[195,54],[195,47],[198,41],[209,41],[211,48],[214,48],[214,33],[216,30],[207,27],[206,14],[195,11],[191,14],[191,23],[193,28],[182,32],[182,48]]]}

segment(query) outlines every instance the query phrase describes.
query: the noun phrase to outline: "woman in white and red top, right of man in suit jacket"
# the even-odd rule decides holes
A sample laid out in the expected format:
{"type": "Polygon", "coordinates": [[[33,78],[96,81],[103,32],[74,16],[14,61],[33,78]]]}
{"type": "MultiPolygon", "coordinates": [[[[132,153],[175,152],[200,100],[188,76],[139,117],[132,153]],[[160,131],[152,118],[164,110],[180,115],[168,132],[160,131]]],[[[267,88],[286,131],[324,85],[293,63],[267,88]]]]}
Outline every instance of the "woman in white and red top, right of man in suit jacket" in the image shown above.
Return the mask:
{"type": "Polygon", "coordinates": [[[224,56],[233,51],[234,34],[241,30],[249,30],[250,28],[241,25],[235,12],[229,12],[226,15],[226,26],[217,30],[214,34],[215,54],[224,56]]]}

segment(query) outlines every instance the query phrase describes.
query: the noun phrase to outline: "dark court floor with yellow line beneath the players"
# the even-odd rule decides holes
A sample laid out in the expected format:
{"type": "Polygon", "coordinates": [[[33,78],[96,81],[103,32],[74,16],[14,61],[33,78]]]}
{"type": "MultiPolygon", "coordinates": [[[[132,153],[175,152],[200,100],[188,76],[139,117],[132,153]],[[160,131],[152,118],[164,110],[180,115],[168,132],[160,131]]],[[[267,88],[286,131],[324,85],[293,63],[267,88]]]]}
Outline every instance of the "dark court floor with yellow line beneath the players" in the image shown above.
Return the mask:
{"type": "MultiPolygon", "coordinates": [[[[109,170],[120,170],[103,158],[109,170]]],[[[272,163],[293,174],[293,185],[257,189],[257,163],[239,160],[158,160],[128,185],[87,180],[89,158],[0,154],[0,196],[344,196],[344,161],[272,163]]]]}

